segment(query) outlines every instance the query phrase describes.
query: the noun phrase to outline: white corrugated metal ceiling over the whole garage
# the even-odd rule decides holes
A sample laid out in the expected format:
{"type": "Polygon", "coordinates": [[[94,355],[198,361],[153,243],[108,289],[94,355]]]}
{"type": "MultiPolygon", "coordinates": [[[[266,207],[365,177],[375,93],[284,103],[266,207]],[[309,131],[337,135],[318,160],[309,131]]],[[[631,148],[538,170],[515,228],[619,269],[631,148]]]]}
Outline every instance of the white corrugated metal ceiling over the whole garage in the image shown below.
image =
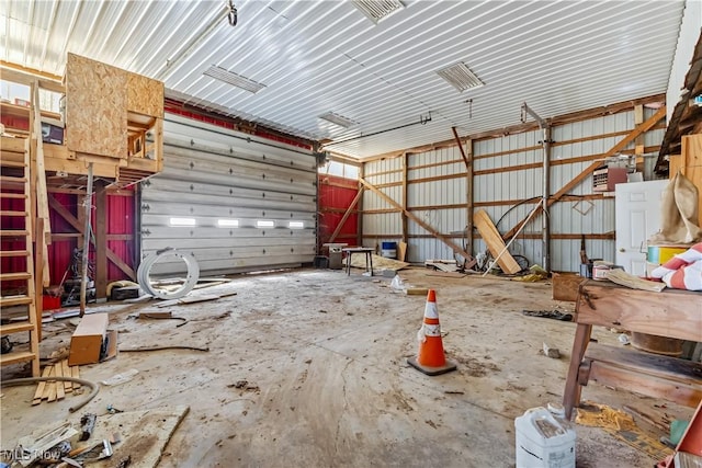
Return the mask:
{"type": "Polygon", "coordinates": [[[350,1],[0,2],[0,58],[63,75],[67,52],[165,80],[171,95],[369,157],[666,90],[683,1],[403,1],[375,25],[350,1]],[[435,70],[465,62],[460,93],[435,70]],[[252,94],[203,72],[265,85],[252,94]],[[472,100],[472,104],[466,103],[472,100]],[[318,118],[327,112],[359,125],[318,118]]]}

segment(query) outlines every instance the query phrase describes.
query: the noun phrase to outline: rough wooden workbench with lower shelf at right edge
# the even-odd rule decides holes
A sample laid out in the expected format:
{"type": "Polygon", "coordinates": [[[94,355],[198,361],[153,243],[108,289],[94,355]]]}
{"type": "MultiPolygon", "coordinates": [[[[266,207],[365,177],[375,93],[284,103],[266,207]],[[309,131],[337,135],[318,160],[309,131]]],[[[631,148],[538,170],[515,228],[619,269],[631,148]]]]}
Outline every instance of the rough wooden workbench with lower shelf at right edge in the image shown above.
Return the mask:
{"type": "Polygon", "coordinates": [[[621,346],[596,344],[588,350],[588,344],[592,326],[700,342],[702,293],[652,293],[589,279],[580,284],[575,321],[578,324],[563,396],[567,418],[580,403],[580,392],[588,380],[698,406],[702,398],[702,364],[621,346]]]}

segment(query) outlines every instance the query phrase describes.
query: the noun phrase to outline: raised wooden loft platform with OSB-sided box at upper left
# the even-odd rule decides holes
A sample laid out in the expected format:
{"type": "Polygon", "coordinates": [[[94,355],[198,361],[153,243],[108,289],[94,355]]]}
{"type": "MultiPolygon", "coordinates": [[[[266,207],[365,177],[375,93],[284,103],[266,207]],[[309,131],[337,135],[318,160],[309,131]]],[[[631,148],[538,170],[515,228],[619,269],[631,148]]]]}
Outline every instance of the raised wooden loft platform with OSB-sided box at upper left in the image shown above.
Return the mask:
{"type": "MultiPolygon", "coordinates": [[[[68,54],[60,83],[37,79],[20,69],[3,68],[1,78],[66,95],[65,122],[58,114],[42,112],[43,121],[65,126],[63,145],[42,144],[47,185],[84,184],[81,181],[90,163],[93,176],[106,179],[117,187],[162,170],[161,81],[73,54],[68,54]]],[[[2,103],[2,113],[18,119],[31,122],[33,112],[31,107],[2,103]]],[[[16,137],[31,136],[29,130],[16,127],[5,132],[16,137]]]]}

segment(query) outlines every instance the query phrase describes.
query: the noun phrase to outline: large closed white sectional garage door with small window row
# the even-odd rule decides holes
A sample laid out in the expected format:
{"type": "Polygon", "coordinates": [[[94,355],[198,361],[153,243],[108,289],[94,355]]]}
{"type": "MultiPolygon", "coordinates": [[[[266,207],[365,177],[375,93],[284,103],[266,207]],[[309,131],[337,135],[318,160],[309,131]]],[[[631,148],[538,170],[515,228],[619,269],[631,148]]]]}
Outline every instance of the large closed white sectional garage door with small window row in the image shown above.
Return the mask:
{"type": "MultiPolygon", "coordinates": [[[[317,213],[312,151],[168,114],[163,171],[141,182],[141,255],[192,254],[201,275],[312,262],[317,213]]],[[[151,274],[181,274],[182,261],[151,274]]]]}

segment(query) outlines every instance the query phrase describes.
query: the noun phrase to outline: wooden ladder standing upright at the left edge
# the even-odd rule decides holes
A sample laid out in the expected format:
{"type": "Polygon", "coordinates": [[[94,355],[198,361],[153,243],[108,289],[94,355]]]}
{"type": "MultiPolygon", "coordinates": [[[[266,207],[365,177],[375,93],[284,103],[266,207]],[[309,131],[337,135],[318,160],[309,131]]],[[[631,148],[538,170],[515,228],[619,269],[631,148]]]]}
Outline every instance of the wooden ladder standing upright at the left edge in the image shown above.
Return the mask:
{"type": "MultiPolygon", "coordinates": [[[[32,247],[33,196],[29,141],[21,138],[2,137],[0,147],[0,309],[25,307],[26,319],[0,324],[2,336],[29,332],[29,350],[12,350],[0,354],[0,365],[32,362],[32,375],[39,377],[39,328],[37,317],[37,295],[34,276],[34,254],[32,247]],[[5,270],[7,269],[7,270],[5,270]],[[9,294],[5,295],[5,292],[9,294]]],[[[43,224],[43,222],[38,222],[43,224]]],[[[38,226],[37,226],[38,228],[38,226]]],[[[37,237],[37,239],[42,236],[37,237]]],[[[41,292],[41,289],[39,289],[41,292]]],[[[41,305],[38,307],[41,310],[41,305]]]]}

